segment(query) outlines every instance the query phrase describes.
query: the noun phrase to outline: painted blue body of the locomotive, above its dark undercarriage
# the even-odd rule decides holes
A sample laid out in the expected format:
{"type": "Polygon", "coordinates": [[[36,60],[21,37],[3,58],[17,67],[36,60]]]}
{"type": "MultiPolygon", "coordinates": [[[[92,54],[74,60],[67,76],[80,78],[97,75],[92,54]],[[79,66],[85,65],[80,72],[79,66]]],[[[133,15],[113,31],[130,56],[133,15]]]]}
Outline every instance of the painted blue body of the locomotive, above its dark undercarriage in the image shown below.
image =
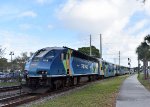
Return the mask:
{"type": "Polygon", "coordinates": [[[98,61],[88,60],[88,56],[72,50],[80,57],[69,55],[69,48],[44,48],[35,53],[35,55],[26,63],[25,70],[29,77],[42,77],[42,72],[46,72],[47,77],[59,76],[77,76],[77,75],[98,75],[98,61]],[[63,57],[62,54],[66,54],[63,57]],[[82,56],[84,58],[82,59],[82,56]],[[87,59],[86,59],[87,58],[87,59]]]}

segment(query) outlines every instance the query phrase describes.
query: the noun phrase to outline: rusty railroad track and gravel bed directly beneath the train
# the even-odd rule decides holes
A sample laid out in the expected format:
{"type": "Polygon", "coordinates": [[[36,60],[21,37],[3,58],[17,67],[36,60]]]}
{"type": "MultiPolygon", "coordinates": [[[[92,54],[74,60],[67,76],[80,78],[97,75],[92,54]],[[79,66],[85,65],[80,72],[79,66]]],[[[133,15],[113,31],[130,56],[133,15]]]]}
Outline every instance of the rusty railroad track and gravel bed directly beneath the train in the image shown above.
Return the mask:
{"type": "MultiPolygon", "coordinates": [[[[105,79],[104,79],[105,80],[105,79]]],[[[101,80],[100,80],[101,81],[101,80]]],[[[88,85],[94,82],[98,82],[98,81],[93,81],[93,82],[86,82],[86,83],[82,83],[79,85],[75,85],[75,86],[71,86],[71,87],[64,87],[62,89],[59,90],[53,90],[52,92],[49,93],[45,93],[45,94],[29,94],[29,93],[21,93],[20,95],[16,95],[16,96],[11,96],[11,97],[7,97],[7,98],[2,98],[0,99],[0,107],[16,107],[25,103],[30,103],[32,101],[44,98],[44,97],[49,97],[49,96],[59,96],[61,95],[61,93],[63,94],[64,92],[67,92],[69,90],[84,86],[84,85],[88,85]]],[[[64,94],[63,94],[64,95],[64,94]]]]}

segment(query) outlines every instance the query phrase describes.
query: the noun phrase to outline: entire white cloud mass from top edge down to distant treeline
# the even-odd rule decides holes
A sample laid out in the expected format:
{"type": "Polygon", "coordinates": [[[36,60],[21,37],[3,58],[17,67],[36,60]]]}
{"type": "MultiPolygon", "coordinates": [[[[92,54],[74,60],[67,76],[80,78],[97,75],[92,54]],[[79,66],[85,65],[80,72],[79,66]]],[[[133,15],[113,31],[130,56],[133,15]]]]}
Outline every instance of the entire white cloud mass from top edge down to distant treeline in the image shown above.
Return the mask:
{"type": "MultiPolygon", "coordinates": [[[[132,57],[133,66],[137,66],[135,49],[149,29],[142,30],[137,35],[131,34],[131,31],[134,33],[142,29],[147,20],[140,20],[132,29],[124,29],[128,23],[133,23],[130,19],[139,11],[143,11],[143,5],[137,0],[68,0],[60,5],[57,16],[66,28],[92,34],[96,38],[93,39],[93,44],[97,47],[98,34],[102,33],[104,59],[114,62],[113,59],[118,58],[118,52],[121,51],[121,64],[127,66],[127,58],[132,57]],[[116,53],[116,56],[105,56],[111,53],[116,53]]],[[[79,41],[83,41],[81,37],[79,41]]]]}

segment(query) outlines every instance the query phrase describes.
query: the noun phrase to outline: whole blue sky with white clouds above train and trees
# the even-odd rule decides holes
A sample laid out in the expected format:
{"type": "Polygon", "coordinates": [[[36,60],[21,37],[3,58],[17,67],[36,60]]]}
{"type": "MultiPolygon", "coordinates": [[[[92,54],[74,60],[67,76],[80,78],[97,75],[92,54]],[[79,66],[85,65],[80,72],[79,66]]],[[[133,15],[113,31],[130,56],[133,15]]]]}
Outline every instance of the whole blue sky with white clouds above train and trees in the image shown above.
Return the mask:
{"type": "Polygon", "coordinates": [[[44,47],[99,49],[104,60],[137,66],[135,53],[150,34],[150,0],[0,0],[0,46],[10,60],[44,47]]]}

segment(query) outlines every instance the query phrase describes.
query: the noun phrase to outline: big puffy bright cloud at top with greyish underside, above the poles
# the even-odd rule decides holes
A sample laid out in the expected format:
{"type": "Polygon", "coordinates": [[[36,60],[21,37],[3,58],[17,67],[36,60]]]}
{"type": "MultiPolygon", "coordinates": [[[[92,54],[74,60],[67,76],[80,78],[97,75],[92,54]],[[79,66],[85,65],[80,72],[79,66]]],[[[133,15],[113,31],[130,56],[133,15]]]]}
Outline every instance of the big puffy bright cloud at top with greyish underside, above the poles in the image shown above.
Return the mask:
{"type": "Polygon", "coordinates": [[[58,17],[67,27],[99,33],[113,26],[124,27],[137,5],[136,0],[68,0],[58,17]]]}

